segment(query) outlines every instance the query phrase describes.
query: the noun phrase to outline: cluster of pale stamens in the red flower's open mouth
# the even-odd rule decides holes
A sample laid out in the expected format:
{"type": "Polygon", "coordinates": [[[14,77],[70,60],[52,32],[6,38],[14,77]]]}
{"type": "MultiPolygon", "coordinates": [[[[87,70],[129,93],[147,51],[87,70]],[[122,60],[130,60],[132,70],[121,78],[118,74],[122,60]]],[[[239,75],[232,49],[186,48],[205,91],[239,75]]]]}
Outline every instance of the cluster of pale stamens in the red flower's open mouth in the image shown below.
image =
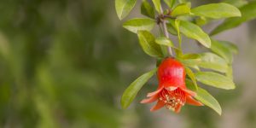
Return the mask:
{"type": "Polygon", "coordinates": [[[166,103],[166,108],[175,110],[179,106],[183,106],[186,102],[185,93],[183,90],[177,88],[176,90],[166,90],[163,89],[160,92],[160,101],[166,103]]]}

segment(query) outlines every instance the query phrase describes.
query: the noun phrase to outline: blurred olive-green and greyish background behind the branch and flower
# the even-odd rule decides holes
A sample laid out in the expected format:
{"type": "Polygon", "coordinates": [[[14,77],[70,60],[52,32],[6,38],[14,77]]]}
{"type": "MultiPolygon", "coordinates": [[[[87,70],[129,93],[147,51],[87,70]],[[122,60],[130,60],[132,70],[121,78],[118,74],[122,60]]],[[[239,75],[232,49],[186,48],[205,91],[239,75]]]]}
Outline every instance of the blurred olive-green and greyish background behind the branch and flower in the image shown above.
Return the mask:
{"type": "MultiPolygon", "coordinates": [[[[192,5],[218,2],[192,0],[192,5]]],[[[137,5],[127,19],[142,16],[139,10],[137,5]]],[[[150,113],[153,104],[139,101],[154,90],[155,78],[130,108],[121,109],[125,88],[155,63],[122,22],[113,0],[1,0],[0,127],[256,128],[256,20],[214,37],[240,49],[236,90],[205,87],[218,99],[222,116],[193,106],[179,114],[150,113]]],[[[183,40],[186,52],[201,52],[190,42],[183,40]]]]}

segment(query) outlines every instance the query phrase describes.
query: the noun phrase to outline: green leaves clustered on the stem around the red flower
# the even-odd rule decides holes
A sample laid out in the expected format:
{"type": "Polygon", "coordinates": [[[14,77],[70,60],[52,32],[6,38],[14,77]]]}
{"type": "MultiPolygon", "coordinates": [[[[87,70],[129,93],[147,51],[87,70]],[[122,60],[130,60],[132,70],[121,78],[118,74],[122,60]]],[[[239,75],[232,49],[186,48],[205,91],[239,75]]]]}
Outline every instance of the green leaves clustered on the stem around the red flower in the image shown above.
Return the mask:
{"type": "MultiPolygon", "coordinates": [[[[115,1],[116,3],[120,3],[122,0],[115,1]]],[[[144,0],[141,5],[142,14],[148,16],[148,18],[154,19],[154,22],[153,20],[150,20],[149,23],[149,19],[128,20],[125,21],[124,27],[131,32],[137,33],[139,43],[141,44],[144,52],[156,59],[164,59],[166,56],[168,56],[166,54],[160,54],[165,53],[165,49],[160,49],[160,47],[169,47],[168,51],[169,55],[171,56],[174,55],[170,49],[174,49],[176,51],[175,57],[177,60],[183,62],[183,65],[186,66],[186,72],[189,76],[188,79],[192,80],[195,91],[198,92],[198,96],[196,97],[197,100],[205,103],[205,105],[221,114],[221,108],[217,100],[215,100],[214,97],[207,92],[207,90],[203,90],[201,87],[198,87],[197,82],[211,85],[212,87],[219,89],[235,89],[235,84],[231,74],[231,66],[233,54],[237,53],[237,48],[235,44],[215,40],[213,37],[207,34],[207,32],[203,31],[201,25],[205,25],[211,20],[226,19],[224,20],[223,24],[220,24],[212,31],[211,35],[222,32],[228,28],[238,26],[242,22],[254,18],[254,2],[241,3],[242,5],[240,9],[236,8],[238,3],[234,3],[234,5],[236,5],[234,6],[230,4],[231,2],[209,3],[195,8],[191,8],[191,3],[189,2],[176,0],[165,0],[163,2],[166,3],[168,8],[162,9],[162,4],[164,3],[161,3],[160,0],[152,0],[153,5],[150,5],[149,1],[144,0]],[[157,12],[158,14],[155,15],[154,12],[157,12]],[[248,16],[248,14],[250,15],[248,16]],[[195,21],[195,19],[201,19],[201,21],[195,21]],[[162,34],[157,35],[155,36],[157,38],[154,40],[154,35],[150,34],[149,31],[152,30],[153,26],[156,24],[160,26],[160,33],[164,33],[164,36],[162,34]],[[168,30],[168,32],[166,30],[168,30]],[[177,36],[179,42],[178,47],[172,43],[173,41],[171,38],[169,38],[169,34],[177,36]],[[208,52],[183,55],[183,49],[181,49],[183,35],[187,38],[195,39],[199,44],[207,48],[208,52]],[[206,69],[207,72],[201,71],[206,69]],[[210,72],[208,70],[210,70],[210,72]]],[[[129,4],[128,2],[115,5],[116,7],[133,7],[133,0],[131,0],[130,3],[130,5],[127,5],[129,4]]],[[[120,14],[122,11],[123,10],[116,9],[117,14],[120,14]]],[[[148,78],[143,80],[143,83],[140,83],[140,81],[137,80],[134,81],[125,90],[122,98],[122,104],[131,103],[130,98],[124,98],[127,94],[129,94],[128,91],[134,91],[131,90],[131,86],[134,84],[139,84],[141,89],[142,84],[145,84],[145,81],[147,80],[148,78]]],[[[138,90],[136,90],[136,92],[137,91],[138,90]]],[[[127,108],[127,106],[125,105],[124,108],[127,108]]]]}

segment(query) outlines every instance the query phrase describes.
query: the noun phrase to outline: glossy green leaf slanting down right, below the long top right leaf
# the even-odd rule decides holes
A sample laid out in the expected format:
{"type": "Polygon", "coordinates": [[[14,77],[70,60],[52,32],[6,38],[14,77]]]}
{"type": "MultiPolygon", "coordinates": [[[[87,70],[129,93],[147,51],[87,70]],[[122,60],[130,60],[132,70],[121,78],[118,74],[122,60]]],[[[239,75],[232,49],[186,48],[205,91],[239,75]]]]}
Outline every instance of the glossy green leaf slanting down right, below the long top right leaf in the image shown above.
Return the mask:
{"type": "Polygon", "coordinates": [[[203,32],[201,30],[200,26],[196,26],[195,24],[190,23],[189,21],[181,20],[179,29],[180,32],[182,32],[188,38],[196,39],[199,43],[201,43],[207,48],[211,47],[211,39],[209,38],[206,32],[203,32]]]}

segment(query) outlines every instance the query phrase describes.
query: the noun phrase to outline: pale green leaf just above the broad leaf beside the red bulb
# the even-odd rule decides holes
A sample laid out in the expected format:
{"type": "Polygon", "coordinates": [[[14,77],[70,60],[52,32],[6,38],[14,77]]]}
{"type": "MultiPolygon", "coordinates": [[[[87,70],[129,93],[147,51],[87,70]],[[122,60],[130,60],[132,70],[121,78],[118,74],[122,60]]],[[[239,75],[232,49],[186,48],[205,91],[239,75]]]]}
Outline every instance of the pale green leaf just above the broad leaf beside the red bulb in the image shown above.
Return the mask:
{"type": "Polygon", "coordinates": [[[212,69],[221,73],[226,73],[228,70],[228,63],[223,58],[212,53],[201,54],[201,62],[199,67],[212,69]]]}

